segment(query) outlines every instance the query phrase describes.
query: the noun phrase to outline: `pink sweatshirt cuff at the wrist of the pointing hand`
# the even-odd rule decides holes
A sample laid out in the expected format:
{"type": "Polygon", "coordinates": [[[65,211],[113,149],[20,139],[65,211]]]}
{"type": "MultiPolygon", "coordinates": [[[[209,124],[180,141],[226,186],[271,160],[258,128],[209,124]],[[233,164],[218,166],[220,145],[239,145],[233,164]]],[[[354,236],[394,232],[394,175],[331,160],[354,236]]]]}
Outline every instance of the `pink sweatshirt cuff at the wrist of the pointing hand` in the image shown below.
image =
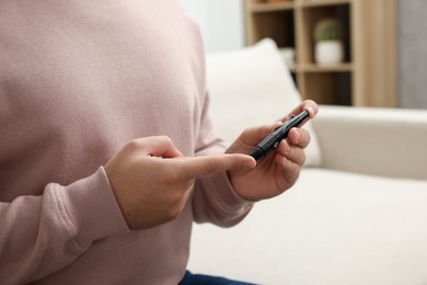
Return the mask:
{"type": "Polygon", "coordinates": [[[91,176],[59,189],[58,194],[81,247],[129,231],[103,167],[91,176]]]}

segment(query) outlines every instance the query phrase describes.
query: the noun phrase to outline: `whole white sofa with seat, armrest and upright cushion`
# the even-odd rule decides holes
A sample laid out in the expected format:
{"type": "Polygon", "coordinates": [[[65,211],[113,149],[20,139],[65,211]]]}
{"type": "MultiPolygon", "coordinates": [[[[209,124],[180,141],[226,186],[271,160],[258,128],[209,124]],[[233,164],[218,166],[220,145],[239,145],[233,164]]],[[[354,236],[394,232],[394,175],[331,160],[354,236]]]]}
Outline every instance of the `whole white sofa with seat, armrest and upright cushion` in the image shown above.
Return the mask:
{"type": "MultiPolygon", "coordinates": [[[[208,55],[231,141],[299,101],[270,39],[208,55]]],[[[188,269],[257,284],[427,284],[427,111],[320,106],[297,184],[235,227],[195,225],[188,269]]]]}

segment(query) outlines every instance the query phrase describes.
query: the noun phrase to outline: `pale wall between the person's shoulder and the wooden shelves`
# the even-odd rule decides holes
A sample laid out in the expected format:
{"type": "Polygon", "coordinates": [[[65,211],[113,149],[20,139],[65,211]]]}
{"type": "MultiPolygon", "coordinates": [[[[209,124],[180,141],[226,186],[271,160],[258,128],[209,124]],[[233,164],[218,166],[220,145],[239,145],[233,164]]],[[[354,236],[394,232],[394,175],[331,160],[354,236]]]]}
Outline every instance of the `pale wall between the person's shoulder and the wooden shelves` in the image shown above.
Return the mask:
{"type": "Polygon", "coordinates": [[[178,0],[200,25],[208,53],[244,46],[244,0],[178,0]]]}

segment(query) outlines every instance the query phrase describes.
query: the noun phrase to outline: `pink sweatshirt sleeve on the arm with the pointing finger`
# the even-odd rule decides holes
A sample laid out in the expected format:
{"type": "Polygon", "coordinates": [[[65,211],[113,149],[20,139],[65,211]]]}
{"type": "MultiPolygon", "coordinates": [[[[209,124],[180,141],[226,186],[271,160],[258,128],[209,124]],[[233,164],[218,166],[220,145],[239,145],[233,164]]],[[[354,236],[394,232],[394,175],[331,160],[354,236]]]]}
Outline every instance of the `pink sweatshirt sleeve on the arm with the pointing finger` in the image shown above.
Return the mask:
{"type": "Polygon", "coordinates": [[[50,183],[41,196],[0,203],[0,225],[3,284],[41,278],[95,240],[129,230],[103,168],[68,186],[50,183]]]}

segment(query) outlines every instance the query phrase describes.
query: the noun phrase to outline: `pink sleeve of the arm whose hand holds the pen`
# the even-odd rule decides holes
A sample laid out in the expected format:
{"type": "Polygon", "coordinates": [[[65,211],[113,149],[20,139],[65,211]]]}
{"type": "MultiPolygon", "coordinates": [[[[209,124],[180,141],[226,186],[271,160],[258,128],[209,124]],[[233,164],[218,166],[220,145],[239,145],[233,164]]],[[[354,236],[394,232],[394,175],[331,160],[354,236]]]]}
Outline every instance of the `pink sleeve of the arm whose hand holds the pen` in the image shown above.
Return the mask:
{"type": "MultiPolygon", "coordinates": [[[[196,156],[226,152],[223,140],[215,133],[209,114],[209,93],[206,92],[201,123],[196,141],[196,156]]],[[[212,223],[231,227],[251,210],[253,202],[238,195],[227,172],[196,180],[193,194],[193,214],[196,223],[212,223]]]]}

